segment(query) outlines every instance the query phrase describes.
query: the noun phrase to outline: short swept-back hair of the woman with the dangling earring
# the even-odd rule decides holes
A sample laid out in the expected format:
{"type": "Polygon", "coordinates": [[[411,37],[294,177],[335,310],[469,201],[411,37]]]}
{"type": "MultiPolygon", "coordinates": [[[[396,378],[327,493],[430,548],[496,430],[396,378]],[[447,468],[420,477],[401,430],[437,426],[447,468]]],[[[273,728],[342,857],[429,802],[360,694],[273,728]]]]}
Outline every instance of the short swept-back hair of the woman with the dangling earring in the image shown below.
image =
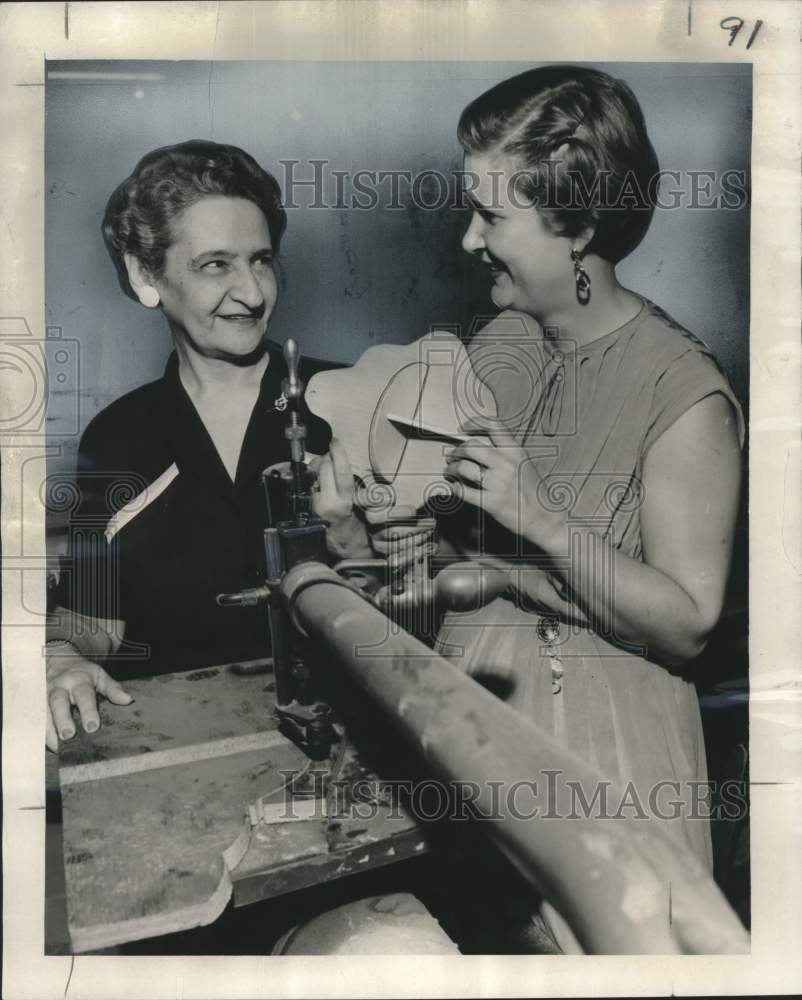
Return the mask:
{"type": "Polygon", "coordinates": [[[458,135],[469,153],[513,159],[516,190],[552,232],[573,237],[594,226],[585,253],[617,263],[646,235],[659,166],[623,81],[579,66],[528,70],[472,101],[458,135]]]}

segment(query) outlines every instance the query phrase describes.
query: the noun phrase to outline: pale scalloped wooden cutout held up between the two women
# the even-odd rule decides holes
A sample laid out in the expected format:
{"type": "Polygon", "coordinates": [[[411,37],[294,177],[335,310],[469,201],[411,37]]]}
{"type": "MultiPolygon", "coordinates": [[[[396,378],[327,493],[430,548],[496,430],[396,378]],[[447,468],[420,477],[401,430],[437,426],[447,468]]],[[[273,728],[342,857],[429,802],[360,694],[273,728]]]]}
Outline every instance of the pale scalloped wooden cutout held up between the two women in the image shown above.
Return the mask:
{"type": "Polygon", "coordinates": [[[454,443],[450,436],[464,435],[466,421],[498,412],[462,342],[440,330],[405,347],[371,347],[352,368],[319,372],[305,398],[345,446],[371,506],[417,509],[449,492],[443,453],[454,443]]]}

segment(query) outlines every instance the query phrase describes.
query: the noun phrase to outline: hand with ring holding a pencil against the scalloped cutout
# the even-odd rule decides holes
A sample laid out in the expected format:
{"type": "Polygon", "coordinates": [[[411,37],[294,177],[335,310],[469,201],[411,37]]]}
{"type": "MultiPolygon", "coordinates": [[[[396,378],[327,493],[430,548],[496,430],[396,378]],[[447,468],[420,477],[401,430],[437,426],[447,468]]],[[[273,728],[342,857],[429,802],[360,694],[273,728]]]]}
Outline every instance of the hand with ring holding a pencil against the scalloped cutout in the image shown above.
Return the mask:
{"type": "Polygon", "coordinates": [[[472,437],[446,452],[446,473],[456,480],[460,495],[481,507],[502,527],[543,546],[565,528],[564,515],[547,510],[538,499],[543,482],[532,456],[500,420],[483,420],[472,429],[487,437],[472,437]]]}

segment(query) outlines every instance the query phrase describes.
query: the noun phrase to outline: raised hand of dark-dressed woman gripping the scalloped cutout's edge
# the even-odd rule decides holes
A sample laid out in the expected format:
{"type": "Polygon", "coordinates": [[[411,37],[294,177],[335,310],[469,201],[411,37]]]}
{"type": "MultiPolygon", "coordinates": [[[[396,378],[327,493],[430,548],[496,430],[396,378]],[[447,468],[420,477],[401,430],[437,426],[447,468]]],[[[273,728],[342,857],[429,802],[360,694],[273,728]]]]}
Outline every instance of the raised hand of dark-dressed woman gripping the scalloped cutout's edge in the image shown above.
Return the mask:
{"type": "Polygon", "coordinates": [[[370,556],[367,529],[354,512],[354,476],[341,442],[332,438],[328,454],[313,458],[309,468],[317,473],[312,506],[326,524],[329,551],[340,559],[370,556]]]}

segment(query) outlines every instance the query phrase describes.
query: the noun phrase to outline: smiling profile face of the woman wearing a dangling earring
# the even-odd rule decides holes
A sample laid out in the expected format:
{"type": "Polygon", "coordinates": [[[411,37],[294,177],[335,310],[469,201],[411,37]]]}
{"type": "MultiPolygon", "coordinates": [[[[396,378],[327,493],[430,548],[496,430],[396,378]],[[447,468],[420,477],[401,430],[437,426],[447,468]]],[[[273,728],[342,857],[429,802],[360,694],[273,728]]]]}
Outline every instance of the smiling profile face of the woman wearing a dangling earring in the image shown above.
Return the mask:
{"type": "Polygon", "coordinates": [[[506,156],[468,153],[466,191],[473,209],[462,240],[487,265],[490,295],[499,309],[547,319],[576,299],[571,248],[585,239],[554,235],[540,213],[512,188],[515,165],[506,156]]]}

